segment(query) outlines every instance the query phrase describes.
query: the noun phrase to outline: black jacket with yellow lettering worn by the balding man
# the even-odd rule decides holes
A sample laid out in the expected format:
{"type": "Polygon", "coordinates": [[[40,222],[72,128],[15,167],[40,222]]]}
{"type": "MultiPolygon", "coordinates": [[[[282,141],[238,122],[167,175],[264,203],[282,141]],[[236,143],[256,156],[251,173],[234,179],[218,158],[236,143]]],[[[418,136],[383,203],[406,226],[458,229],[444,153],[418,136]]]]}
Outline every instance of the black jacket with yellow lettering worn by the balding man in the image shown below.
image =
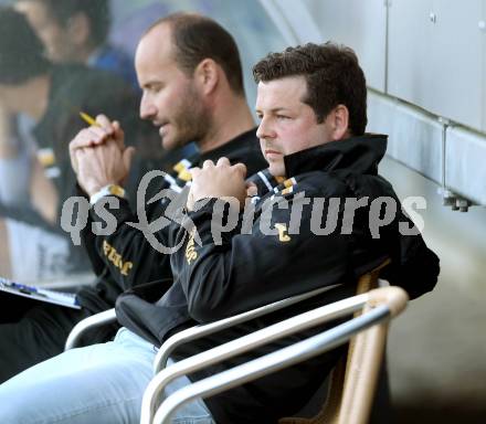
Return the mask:
{"type": "MultiPolygon", "coordinates": [[[[181,195],[178,193],[186,186],[184,174],[187,172],[184,170],[187,168],[201,166],[207,159],[218,160],[221,157],[228,157],[233,163],[245,163],[249,172],[253,173],[263,169],[266,162],[260,150],[255,131],[251,129],[214,150],[203,155],[197,153],[182,160],[179,162],[183,168],[182,171],[175,167],[177,170],[167,178],[159,172],[150,179],[145,198],[135,200],[138,202],[137,208],[145,208],[144,214],[148,223],[165,220],[168,216],[167,199],[149,203],[149,200],[159,192],[168,190],[172,195],[178,197],[178,204],[186,203],[187,192],[181,195]]],[[[89,210],[88,223],[82,232],[83,244],[98,278],[95,287],[84,287],[77,297],[80,303],[92,312],[113,308],[118,295],[134,286],[155,279],[172,279],[169,256],[154,248],[140,229],[128,224],[138,223],[139,218],[138,211],[133,212],[128,200],[122,199],[119,208],[106,208],[106,211],[116,218],[116,231],[112,235],[93,234],[92,223],[104,223],[104,218],[98,216],[93,208],[89,210]]],[[[154,237],[156,243],[167,246],[168,226],[155,231],[154,237]]],[[[160,285],[158,287],[157,294],[160,297],[163,290],[160,289],[160,285]]]]}

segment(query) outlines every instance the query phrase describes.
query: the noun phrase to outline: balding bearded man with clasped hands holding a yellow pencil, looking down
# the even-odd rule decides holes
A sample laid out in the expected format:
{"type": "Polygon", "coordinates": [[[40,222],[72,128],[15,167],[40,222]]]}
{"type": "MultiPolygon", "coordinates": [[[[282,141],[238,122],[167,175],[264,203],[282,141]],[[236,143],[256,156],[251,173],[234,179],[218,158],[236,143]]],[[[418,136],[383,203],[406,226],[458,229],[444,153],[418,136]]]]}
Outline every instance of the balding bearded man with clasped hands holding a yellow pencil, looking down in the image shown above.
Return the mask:
{"type": "MultiPolygon", "coordinates": [[[[159,172],[150,179],[145,201],[161,190],[176,197],[188,181],[188,169],[209,159],[228,157],[233,163],[245,163],[250,173],[266,166],[244,95],[236,44],[216,22],[196,14],[160,20],[140,40],[136,68],[142,89],[140,117],[159,128],[163,149],[173,150],[192,141],[199,146],[199,153],[175,163],[170,174],[159,172]]],[[[125,148],[118,123],[106,116],[97,119],[98,126],[82,129],[70,146],[80,195],[92,204],[82,239],[97,276],[95,286],[83,286],[77,293],[84,312],[78,320],[113,308],[117,297],[129,288],[166,279],[166,284],[154,284],[155,290],[150,288],[151,294],[161,296],[172,279],[170,257],[157,248],[167,246],[168,227],[156,232],[156,242],[151,242],[142,231],[127,224],[139,221],[124,188],[134,149],[125,148]],[[109,208],[110,201],[117,206],[109,208]],[[105,202],[109,205],[98,208],[105,202]],[[116,229],[108,235],[96,235],[93,224],[106,225],[105,211],[113,214],[116,229]]],[[[168,204],[159,201],[138,206],[145,206],[149,222],[154,222],[165,218],[168,204]]],[[[60,326],[51,309],[65,308],[52,306],[42,314],[31,314],[22,322],[29,331],[21,331],[24,327],[17,324],[10,326],[18,329],[18,337],[15,343],[3,341],[2,351],[8,354],[0,354],[0,381],[62,352],[76,320],[60,326]],[[55,325],[49,325],[51,321],[55,325]]],[[[107,339],[102,331],[91,335],[88,341],[107,339]]]]}

